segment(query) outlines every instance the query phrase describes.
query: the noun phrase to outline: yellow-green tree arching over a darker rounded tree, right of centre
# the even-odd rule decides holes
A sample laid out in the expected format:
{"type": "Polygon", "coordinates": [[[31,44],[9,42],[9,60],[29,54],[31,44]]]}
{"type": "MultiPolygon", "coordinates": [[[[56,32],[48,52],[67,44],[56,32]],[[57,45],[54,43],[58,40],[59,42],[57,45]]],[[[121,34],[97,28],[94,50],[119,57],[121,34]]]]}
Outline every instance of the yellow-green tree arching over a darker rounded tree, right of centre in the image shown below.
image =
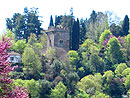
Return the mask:
{"type": "Polygon", "coordinates": [[[89,59],[93,53],[99,53],[98,45],[90,39],[86,39],[85,42],[79,48],[80,65],[85,70],[84,74],[91,73],[89,59]]]}

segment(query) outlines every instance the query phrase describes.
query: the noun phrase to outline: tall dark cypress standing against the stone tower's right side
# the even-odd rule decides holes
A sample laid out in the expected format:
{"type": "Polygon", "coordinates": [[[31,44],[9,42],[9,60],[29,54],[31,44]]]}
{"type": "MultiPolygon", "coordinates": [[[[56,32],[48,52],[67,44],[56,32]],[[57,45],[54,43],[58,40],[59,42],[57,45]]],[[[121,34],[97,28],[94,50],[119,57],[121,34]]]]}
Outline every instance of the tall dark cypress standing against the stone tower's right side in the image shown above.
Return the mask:
{"type": "Polygon", "coordinates": [[[72,50],[78,50],[79,48],[79,32],[79,19],[77,19],[77,21],[74,21],[72,27],[72,50]]]}

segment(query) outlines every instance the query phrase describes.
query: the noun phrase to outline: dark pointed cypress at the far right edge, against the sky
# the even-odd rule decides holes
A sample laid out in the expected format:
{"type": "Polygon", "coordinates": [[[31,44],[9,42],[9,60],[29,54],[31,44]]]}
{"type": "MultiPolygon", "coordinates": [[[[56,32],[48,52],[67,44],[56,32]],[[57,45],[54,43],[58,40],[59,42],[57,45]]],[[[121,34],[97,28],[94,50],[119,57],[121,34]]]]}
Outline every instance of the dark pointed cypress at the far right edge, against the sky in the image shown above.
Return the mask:
{"type": "Polygon", "coordinates": [[[122,36],[126,36],[129,34],[129,18],[128,15],[125,16],[123,24],[122,24],[122,36]]]}

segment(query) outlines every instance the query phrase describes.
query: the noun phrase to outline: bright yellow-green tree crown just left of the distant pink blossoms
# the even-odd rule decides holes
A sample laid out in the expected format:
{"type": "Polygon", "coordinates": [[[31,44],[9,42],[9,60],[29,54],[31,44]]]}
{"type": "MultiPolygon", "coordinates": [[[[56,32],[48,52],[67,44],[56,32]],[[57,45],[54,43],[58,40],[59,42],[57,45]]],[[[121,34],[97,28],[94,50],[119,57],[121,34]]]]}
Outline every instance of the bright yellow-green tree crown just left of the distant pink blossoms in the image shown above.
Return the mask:
{"type": "Polygon", "coordinates": [[[106,39],[109,38],[109,35],[112,35],[112,33],[110,32],[110,30],[105,30],[105,31],[101,34],[101,36],[100,36],[100,38],[99,38],[99,43],[100,43],[101,46],[102,46],[102,43],[103,43],[106,39]]]}

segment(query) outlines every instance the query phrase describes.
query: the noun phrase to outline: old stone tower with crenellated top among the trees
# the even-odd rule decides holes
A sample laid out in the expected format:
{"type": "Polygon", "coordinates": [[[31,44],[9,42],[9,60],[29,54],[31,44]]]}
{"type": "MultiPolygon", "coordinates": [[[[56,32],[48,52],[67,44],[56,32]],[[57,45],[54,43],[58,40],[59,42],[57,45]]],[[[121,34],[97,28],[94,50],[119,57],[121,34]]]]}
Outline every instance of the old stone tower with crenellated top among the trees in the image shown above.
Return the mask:
{"type": "Polygon", "coordinates": [[[69,51],[69,29],[51,26],[47,30],[47,48],[57,47],[69,51]]]}

